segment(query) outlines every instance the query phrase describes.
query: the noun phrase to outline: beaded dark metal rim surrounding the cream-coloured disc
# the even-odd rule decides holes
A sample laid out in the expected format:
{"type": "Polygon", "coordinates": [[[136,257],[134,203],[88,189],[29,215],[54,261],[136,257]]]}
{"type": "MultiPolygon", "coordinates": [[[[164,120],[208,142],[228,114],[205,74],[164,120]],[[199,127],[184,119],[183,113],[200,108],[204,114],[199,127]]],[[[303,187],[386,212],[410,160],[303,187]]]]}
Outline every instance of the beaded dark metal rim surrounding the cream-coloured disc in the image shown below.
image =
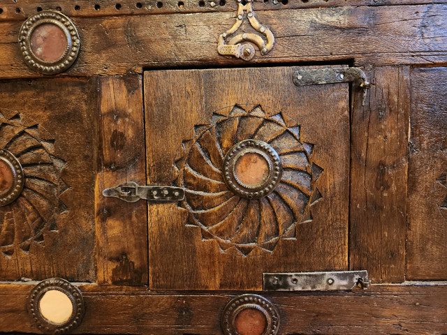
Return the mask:
{"type": "Polygon", "coordinates": [[[38,283],[29,295],[28,307],[29,313],[31,313],[38,329],[45,332],[45,334],[63,334],[74,327],[78,327],[85,312],[84,299],[82,298],[81,291],[65,279],[61,278],[49,278],[38,283]],[[43,295],[50,290],[58,290],[64,293],[73,305],[73,312],[71,313],[70,318],[64,323],[56,324],[50,322],[50,320],[44,318],[39,311],[39,302],[43,295]]]}

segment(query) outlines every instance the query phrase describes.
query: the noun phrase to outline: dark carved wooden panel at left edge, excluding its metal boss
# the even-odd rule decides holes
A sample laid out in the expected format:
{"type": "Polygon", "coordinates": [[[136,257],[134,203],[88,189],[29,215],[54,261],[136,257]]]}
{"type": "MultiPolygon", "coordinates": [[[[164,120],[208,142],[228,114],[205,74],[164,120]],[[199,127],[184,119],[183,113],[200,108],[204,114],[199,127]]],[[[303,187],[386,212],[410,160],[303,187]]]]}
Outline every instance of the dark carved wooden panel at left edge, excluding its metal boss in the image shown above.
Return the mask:
{"type": "Polygon", "coordinates": [[[0,207],[0,279],[94,280],[94,112],[85,80],[0,83],[0,149],[24,186],[0,207]]]}

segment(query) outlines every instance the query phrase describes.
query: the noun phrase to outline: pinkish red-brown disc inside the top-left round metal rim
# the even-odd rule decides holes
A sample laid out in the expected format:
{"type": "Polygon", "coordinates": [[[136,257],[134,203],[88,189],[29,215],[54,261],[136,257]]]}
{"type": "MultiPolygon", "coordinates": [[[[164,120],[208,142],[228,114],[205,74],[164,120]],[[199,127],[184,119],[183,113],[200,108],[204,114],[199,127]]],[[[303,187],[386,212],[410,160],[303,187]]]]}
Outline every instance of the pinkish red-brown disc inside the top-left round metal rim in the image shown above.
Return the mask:
{"type": "Polygon", "coordinates": [[[56,24],[45,23],[31,33],[31,50],[43,61],[57,61],[66,51],[67,38],[56,24]]]}

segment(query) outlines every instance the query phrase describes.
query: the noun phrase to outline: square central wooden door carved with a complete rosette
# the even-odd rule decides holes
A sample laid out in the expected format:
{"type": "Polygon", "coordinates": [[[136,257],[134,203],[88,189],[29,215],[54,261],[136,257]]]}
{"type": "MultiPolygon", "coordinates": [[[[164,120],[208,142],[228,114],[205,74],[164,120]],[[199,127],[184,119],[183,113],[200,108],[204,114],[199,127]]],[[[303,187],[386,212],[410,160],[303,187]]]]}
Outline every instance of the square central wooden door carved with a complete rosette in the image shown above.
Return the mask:
{"type": "Polygon", "coordinates": [[[348,85],[295,87],[293,70],[145,73],[148,183],[186,189],[148,205],[150,288],[347,269],[348,85]]]}

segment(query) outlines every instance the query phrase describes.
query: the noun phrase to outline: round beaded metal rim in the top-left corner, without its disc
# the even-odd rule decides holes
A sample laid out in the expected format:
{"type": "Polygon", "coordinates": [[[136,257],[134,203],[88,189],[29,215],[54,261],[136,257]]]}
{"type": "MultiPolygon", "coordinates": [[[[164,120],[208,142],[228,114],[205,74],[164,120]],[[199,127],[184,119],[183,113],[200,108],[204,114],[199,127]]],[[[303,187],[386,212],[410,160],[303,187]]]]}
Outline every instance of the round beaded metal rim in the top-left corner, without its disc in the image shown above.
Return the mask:
{"type": "Polygon", "coordinates": [[[61,73],[69,68],[76,60],[80,50],[78,30],[66,15],[54,10],[44,10],[29,17],[23,22],[19,33],[20,50],[27,65],[45,75],[61,73]],[[43,61],[31,50],[31,34],[41,24],[55,24],[67,39],[67,48],[57,61],[43,61]]]}

